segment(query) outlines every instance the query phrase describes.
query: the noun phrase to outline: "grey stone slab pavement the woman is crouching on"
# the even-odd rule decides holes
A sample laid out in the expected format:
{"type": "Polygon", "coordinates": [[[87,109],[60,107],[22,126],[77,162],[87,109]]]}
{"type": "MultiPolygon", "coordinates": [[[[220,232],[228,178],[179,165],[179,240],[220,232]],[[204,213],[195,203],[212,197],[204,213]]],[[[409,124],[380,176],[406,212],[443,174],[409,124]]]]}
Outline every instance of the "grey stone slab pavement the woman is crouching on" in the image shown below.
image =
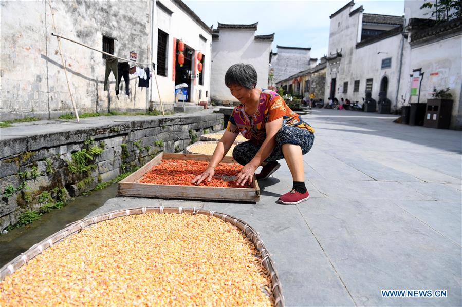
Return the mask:
{"type": "Polygon", "coordinates": [[[196,207],[241,218],[273,254],[288,306],[460,306],[462,133],[394,124],[391,115],[313,110],[304,156],[310,199],[285,162],[257,204],[120,197],[89,216],[141,206],[196,207]],[[446,289],[446,298],[382,298],[381,289],[446,289]]]}

